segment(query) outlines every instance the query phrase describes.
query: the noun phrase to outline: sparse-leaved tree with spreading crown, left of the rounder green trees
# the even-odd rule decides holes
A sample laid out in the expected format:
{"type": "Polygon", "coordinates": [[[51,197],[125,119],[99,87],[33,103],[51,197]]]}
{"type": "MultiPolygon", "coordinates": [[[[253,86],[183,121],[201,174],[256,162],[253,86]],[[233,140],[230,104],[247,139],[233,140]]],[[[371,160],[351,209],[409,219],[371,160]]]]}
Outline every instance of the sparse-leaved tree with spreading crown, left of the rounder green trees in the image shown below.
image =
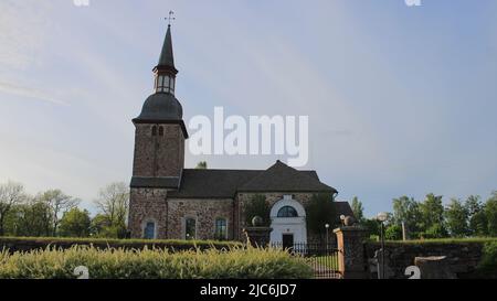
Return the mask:
{"type": "Polygon", "coordinates": [[[57,233],[59,224],[61,223],[61,215],[65,214],[70,209],[76,207],[80,204],[80,200],[64,194],[60,190],[47,190],[40,193],[36,198],[40,202],[46,203],[50,208],[52,221],[52,228],[50,230],[51,236],[55,236],[57,233]]]}

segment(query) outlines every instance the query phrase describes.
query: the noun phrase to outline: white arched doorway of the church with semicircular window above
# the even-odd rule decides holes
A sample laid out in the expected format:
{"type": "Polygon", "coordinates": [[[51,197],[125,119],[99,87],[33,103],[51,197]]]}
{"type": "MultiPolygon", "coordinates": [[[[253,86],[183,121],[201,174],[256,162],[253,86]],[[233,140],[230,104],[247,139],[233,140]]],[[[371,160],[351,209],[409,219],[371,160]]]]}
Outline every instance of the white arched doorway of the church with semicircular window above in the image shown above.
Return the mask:
{"type": "Polygon", "coordinates": [[[306,211],[292,195],[284,195],[271,208],[271,243],[293,247],[307,243],[306,211]]]}

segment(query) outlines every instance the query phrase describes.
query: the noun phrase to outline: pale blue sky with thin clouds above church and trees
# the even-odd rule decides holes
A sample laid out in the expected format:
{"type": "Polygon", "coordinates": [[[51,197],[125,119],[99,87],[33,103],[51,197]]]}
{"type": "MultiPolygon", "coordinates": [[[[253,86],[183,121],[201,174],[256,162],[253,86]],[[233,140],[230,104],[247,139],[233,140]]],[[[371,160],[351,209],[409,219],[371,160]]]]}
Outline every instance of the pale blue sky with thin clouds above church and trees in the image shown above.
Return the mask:
{"type": "MultiPolygon", "coordinates": [[[[169,10],[184,120],[309,117],[309,161],[366,215],[497,190],[497,1],[0,1],[0,183],[95,209],[131,176],[169,10]]],[[[187,148],[188,150],[188,148],[187,148]]],[[[277,155],[192,155],[266,169],[277,155]]]]}

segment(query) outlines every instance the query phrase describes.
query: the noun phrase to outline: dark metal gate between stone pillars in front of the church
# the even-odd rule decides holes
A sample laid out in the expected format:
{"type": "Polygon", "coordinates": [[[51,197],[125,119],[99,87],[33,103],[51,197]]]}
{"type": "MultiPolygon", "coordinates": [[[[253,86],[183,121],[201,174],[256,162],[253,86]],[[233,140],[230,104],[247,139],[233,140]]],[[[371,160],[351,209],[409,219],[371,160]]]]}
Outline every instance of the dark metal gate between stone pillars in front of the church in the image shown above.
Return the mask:
{"type": "MultiPolygon", "coordinates": [[[[283,244],[271,244],[274,248],[283,248],[283,244]]],[[[302,256],[313,268],[316,279],[340,279],[342,278],[338,256],[340,250],[335,246],[326,244],[300,244],[296,243],[293,247],[285,248],[294,256],[302,256]]]]}

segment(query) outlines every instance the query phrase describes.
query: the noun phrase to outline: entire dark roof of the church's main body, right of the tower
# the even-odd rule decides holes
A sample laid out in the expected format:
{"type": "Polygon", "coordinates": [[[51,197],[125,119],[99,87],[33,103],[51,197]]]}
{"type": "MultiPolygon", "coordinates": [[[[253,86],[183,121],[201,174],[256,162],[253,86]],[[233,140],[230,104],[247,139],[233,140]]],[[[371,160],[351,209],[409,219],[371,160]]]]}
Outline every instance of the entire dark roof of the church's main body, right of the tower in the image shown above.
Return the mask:
{"type": "Polygon", "coordinates": [[[337,192],[315,171],[297,171],[281,161],[267,170],[186,169],[169,197],[232,198],[237,192],[337,192]]]}

